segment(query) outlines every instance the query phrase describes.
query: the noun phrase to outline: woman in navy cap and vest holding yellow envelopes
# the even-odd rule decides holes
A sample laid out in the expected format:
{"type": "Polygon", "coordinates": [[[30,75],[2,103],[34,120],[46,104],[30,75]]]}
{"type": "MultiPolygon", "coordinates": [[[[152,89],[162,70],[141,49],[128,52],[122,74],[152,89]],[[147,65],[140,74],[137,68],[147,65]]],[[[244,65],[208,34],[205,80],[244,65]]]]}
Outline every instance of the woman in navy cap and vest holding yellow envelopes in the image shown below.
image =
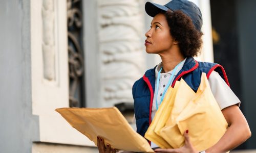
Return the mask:
{"type": "MultiPolygon", "coordinates": [[[[197,62],[193,58],[198,55],[202,45],[200,9],[192,2],[173,0],[165,6],[147,2],[145,11],[154,17],[151,29],[145,34],[146,52],[158,54],[162,62],[155,68],[147,70],[133,86],[137,132],[144,136],[169,86],[174,87],[176,81],[182,78],[190,88],[197,91],[201,74],[205,72],[212,93],[229,125],[227,131],[214,146],[206,150],[196,150],[193,147],[189,141],[189,129],[187,129],[184,132],[183,147],[157,148],[155,151],[227,152],[247,140],[251,132],[239,109],[240,100],[229,88],[223,67],[216,63],[197,62]]],[[[102,148],[100,141],[98,146],[102,148]]],[[[151,143],[151,146],[158,147],[154,143],[151,143]]]]}

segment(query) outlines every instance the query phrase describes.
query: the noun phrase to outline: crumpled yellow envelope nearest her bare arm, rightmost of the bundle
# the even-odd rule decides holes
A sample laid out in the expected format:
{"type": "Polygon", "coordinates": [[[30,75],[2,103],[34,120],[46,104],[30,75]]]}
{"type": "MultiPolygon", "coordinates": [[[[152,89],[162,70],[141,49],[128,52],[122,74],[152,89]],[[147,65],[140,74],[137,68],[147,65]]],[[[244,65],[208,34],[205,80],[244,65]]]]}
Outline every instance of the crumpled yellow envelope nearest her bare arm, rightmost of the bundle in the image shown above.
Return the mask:
{"type": "Polygon", "coordinates": [[[205,73],[202,73],[196,96],[189,101],[174,121],[176,125],[169,129],[164,127],[161,135],[169,136],[169,139],[165,140],[175,147],[184,144],[185,130],[189,130],[190,141],[197,150],[205,150],[214,145],[225,133],[228,124],[211,93],[205,73]]]}

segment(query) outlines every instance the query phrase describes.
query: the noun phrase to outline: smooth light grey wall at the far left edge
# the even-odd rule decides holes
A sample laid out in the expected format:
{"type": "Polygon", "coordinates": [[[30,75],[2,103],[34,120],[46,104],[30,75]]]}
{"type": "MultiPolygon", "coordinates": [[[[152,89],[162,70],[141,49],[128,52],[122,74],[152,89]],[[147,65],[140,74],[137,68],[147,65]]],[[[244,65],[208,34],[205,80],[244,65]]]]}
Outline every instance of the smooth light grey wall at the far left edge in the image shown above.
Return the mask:
{"type": "Polygon", "coordinates": [[[31,152],[38,140],[31,107],[29,3],[0,1],[0,152],[31,152]]]}

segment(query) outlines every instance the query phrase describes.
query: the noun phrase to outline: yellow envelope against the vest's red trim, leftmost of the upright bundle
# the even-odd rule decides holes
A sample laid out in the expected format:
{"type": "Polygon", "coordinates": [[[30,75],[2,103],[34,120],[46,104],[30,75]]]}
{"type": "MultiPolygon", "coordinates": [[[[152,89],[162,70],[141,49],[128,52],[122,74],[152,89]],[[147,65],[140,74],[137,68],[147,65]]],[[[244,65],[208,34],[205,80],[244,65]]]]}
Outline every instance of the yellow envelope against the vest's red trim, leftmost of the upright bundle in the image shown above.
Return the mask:
{"type": "Polygon", "coordinates": [[[158,124],[161,122],[161,120],[164,120],[164,117],[167,117],[166,115],[165,116],[163,115],[164,112],[165,112],[165,109],[169,105],[168,104],[169,100],[167,100],[167,99],[171,99],[172,96],[175,95],[175,94],[171,94],[171,93],[176,92],[178,87],[179,87],[179,82],[177,82],[175,84],[174,89],[172,87],[168,88],[168,90],[165,93],[165,97],[162,101],[162,104],[159,106],[151,125],[148,127],[148,129],[145,133],[145,138],[147,140],[150,140],[150,141],[154,142],[155,144],[157,144],[161,148],[173,148],[161,136],[159,136],[155,132],[155,129],[158,126],[158,124]]]}

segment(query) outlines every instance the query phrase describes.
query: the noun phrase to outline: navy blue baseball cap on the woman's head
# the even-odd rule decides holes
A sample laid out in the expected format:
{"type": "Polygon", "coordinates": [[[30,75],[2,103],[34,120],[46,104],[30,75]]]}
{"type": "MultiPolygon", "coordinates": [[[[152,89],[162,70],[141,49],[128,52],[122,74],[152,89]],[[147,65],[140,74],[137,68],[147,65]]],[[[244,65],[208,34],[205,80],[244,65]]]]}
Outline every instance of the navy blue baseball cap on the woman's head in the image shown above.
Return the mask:
{"type": "Polygon", "coordinates": [[[146,13],[152,17],[160,12],[166,12],[167,10],[182,11],[184,14],[191,18],[196,29],[201,32],[203,24],[202,13],[199,7],[193,2],[187,0],[173,0],[164,6],[151,2],[147,2],[145,4],[146,13]]]}

